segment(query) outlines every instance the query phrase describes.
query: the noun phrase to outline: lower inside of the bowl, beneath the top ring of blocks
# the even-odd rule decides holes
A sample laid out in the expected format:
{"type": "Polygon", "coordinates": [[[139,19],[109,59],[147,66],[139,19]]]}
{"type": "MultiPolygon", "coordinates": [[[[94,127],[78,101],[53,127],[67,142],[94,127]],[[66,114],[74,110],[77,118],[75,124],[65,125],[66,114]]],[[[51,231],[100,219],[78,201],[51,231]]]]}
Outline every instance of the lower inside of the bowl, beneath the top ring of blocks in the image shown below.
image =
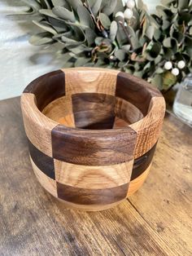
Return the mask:
{"type": "Polygon", "coordinates": [[[129,101],[89,92],[55,99],[42,113],[65,126],[90,130],[122,128],[143,117],[142,112],[129,101]]]}

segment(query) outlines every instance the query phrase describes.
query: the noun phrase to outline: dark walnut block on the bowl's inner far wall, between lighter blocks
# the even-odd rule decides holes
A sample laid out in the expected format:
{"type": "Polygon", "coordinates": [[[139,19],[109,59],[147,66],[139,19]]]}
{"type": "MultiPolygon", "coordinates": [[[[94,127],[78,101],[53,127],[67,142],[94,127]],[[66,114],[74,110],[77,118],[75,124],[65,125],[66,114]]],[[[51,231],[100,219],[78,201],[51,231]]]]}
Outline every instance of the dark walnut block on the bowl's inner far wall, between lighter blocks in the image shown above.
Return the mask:
{"type": "Polygon", "coordinates": [[[77,128],[112,129],[116,97],[99,93],[72,95],[72,112],[77,128]]]}

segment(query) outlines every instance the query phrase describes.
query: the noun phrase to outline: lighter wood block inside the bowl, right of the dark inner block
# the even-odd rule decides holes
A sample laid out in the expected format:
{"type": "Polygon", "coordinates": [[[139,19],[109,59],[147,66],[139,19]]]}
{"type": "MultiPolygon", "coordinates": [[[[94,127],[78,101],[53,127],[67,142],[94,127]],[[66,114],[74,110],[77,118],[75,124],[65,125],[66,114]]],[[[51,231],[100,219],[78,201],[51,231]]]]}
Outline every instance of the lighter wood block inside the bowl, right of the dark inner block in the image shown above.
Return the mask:
{"type": "Polygon", "coordinates": [[[120,117],[120,119],[123,119],[130,124],[143,118],[142,112],[137,107],[129,103],[129,101],[120,99],[119,97],[116,97],[115,114],[116,117],[120,117]]]}

